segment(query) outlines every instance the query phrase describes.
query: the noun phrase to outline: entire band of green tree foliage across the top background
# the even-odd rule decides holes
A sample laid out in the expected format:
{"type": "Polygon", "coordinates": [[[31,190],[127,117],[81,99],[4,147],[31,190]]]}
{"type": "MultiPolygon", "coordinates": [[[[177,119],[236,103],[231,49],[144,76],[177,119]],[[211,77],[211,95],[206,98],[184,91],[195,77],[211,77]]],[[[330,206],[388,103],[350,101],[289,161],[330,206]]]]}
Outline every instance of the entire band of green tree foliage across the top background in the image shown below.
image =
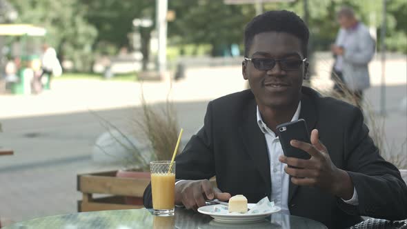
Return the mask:
{"type": "MultiPolygon", "coordinates": [[[[264,10],[287,9],[304,17],[304,1],[264,3],[264,10]]],[[[77,70],[88,70],[95,53],[117,54],[131,45],[128,35],[139,29],[144,51],[151,28],[132,25],[133,19],[155,21],[156,1],[143,0],[8,0],[19,12],[15,23],[34,23],[47,29],[46,40],[60,55],[75,61],[77,70]]],[[[386,45],[390,50],[407,52],[407,1],[387,1],[386,45]]],[[[341,6],[355,9],[367,26],[377,28],[380,41],[382,0],[308,0],[308,26],[312,47],[326,50],[335,40],[339,25],[336,12],[341,6]]],[[[210,44],[212,55],[237,43],[242,48],[246,23],[255,16],[252,4],[226,5],[222,0],[169,0],[175,21],[168,22],[169,45],[210,44]]]]}

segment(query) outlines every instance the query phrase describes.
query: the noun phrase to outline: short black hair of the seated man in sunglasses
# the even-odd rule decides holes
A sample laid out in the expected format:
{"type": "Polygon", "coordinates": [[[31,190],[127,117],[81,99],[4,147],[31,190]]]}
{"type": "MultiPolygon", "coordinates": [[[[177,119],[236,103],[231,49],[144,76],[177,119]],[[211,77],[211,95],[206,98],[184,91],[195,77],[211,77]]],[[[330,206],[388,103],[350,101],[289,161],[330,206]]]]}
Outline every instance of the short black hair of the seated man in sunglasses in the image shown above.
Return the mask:
{"type": "Polygon", "coordinates": [[[286,32],[301,41],[304,57],[307,56],[310,32],[300,17],[287,10],[272,10],[252,19],[244,30],[244,55],[247,57],[253,37],[261,32],[286,32]]]}

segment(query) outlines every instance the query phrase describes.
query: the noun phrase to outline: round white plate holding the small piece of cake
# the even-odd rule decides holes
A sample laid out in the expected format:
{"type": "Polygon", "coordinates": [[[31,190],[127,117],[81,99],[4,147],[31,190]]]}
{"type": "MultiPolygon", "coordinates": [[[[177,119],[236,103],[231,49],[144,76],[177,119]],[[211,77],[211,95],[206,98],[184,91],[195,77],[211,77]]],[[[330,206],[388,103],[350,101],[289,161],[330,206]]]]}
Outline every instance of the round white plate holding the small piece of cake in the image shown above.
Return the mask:
{"type": "MultiPolygon", "coordinates": [[[[254,207],[255,203],[248,203],[248,208],[254,207]]],[[[281,208],[275,206],[274,210],[270,210],[270,212],[263,212],[263,213],[253,213],[253,214],[240,214],[240,213],[219,213],[219,212],[212,212],[215,206],[222,206],[221,204],[215,205],[208,205],[198,208],[198,212],[210,215],[215,221],[219,221],[222,223],[240,223],[240,222],[252,222],[252,221],[259,221],[268,217],[272,213],[279,212],[281,208]]]]}

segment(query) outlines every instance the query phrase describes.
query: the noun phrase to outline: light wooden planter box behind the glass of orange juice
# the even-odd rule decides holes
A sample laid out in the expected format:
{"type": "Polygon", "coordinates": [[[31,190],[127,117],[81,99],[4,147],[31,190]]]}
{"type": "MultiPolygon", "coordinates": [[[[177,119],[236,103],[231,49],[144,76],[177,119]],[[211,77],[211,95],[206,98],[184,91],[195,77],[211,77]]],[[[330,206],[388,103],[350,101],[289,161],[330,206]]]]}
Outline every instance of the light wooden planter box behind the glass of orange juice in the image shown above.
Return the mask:
{"type": "Polygon", "coordinates": [[[117,171],[109,171],[77,175],[77,190],[82,192],[78,212],[144,207],[142,203],[128,205],[124,202],[124,197],[142,198],[150,179],[116,177],[116,173],[117,171]],[[95,197],[95,194],[105,196],[95,197]]]}

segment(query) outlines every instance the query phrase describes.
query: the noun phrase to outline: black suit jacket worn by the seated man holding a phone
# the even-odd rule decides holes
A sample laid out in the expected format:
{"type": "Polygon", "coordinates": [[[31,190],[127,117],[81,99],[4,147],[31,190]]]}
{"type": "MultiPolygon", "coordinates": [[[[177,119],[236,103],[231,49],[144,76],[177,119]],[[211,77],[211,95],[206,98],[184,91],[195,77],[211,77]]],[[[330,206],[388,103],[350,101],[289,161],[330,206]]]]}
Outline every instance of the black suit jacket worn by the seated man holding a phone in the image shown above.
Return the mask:
{"type": "MultiPolygon", "coordinates": [[[[328,228],[346,228],[359,215],[381,219],[407,218],[407,187],[399,170],[385,161],[368,135],[361,111],[348,103],[320,97],[302,88],[299,118],[319,137],[338,168],[348,171],[356,188],[359,205],[351,206],[319,188],[290,182],[288,208],[291,215],[307,217],[328,228]]],[[[216,175],[224,192],[247,197],[255,203],[270,198],[270,160],[266,139],[256,117],[256,101],[250,90],[208,103],[204,126],[193,135],[177,156],[177,179],[208,179],[216,175]]],[[[150,186],[144,205],[152,206],[150,186]]]]}

